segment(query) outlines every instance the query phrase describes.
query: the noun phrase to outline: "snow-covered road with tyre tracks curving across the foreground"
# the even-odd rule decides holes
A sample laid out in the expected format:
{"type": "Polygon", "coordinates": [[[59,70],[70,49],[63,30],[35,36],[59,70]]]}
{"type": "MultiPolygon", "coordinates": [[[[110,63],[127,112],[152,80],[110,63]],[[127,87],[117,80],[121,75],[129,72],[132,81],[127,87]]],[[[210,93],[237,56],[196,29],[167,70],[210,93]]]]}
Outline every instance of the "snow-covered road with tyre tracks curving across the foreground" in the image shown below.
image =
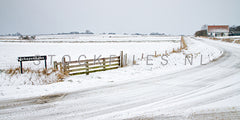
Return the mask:
{"type": "Polygon", "coordinates": [[[240,119],[240,47],[186,71],[39,98],[0,101],[0,119],[240,119]],[[236,105],[236,104],[238,105],[236,105]]]}

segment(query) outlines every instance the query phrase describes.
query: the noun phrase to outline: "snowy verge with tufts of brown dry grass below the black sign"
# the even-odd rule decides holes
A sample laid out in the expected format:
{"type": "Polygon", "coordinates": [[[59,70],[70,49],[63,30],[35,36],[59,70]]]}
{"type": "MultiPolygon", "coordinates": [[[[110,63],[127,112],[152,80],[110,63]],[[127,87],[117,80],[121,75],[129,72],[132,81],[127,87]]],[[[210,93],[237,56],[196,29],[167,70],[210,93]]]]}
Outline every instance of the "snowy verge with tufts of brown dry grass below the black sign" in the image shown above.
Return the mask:
{"type": "Polygon", "coordinates": [[[23,69],[21,74],[20,68],[9,68],[2,70],[0,73],[0,86],[11,85],[45,85],[55,82],[61,82],[65,75],[55,69],[39,69],[31,68],[23,69]]]}

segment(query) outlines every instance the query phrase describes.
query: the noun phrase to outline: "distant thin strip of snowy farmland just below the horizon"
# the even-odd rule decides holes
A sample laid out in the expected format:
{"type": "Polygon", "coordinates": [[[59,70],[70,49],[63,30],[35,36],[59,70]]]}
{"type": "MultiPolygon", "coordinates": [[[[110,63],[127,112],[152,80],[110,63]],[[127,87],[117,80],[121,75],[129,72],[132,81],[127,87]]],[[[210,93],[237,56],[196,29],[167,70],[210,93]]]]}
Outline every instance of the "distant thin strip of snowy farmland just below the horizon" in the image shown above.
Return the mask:
{"type": "Polygon", "coordinates": [[[154,35],[39,35],[36,40],[18,40],[16,36],[0,36],[2,42],[166,42],[180,40],[180,36],[154,36],[154,35]]]}

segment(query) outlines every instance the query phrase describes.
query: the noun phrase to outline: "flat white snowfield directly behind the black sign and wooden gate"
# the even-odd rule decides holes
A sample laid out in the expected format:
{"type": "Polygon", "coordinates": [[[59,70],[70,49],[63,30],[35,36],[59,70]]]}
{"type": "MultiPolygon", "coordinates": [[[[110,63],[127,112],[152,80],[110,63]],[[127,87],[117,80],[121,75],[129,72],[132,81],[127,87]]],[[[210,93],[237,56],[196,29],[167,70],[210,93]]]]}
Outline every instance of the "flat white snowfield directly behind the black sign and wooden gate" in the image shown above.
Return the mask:
{"type": "MultiPolygon", "coordinates": [[[[80,55],[86,55],[87,59],[93,59],[94,55],[109,57],[110,55],[120,55],[124,53],[136,55],[140,58],[142,53],[153,55],[155,51],[158,54],[165,51],[180,48],[179,42],[147,42],[147,43],[11,43],[3,42],[0,44],[0,67],[17,67],[19,63],[17,57],[47,55],[48,66],[52,67],[53,61],[61,61],[64,55],[69,55],[71,60],[77,60],[80,55]],[[54,55],[54,56],[52,56],[54,55]],[[51,60],[52,56],[52,60],[51,60]]],[[[132,58],[132,57],[131,57],[132,58]]],[[[43,63],[43,62],[42,62],[43,63]]],[[[43,65],[34,66],[33,62],[24,62],[24,66],[43,67],[43,65]]]]}

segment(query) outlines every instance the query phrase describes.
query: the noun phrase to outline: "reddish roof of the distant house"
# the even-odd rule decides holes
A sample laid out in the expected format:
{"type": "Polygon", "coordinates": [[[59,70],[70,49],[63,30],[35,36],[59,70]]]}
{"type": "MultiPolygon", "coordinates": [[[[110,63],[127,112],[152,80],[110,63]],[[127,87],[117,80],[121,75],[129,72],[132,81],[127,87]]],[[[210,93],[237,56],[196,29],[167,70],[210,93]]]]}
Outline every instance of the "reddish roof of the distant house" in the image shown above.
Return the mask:
{"type": "Polygon", "coordinates": [[[208,32],[229,32],[228,25],[209,25],[208,32]]]}

